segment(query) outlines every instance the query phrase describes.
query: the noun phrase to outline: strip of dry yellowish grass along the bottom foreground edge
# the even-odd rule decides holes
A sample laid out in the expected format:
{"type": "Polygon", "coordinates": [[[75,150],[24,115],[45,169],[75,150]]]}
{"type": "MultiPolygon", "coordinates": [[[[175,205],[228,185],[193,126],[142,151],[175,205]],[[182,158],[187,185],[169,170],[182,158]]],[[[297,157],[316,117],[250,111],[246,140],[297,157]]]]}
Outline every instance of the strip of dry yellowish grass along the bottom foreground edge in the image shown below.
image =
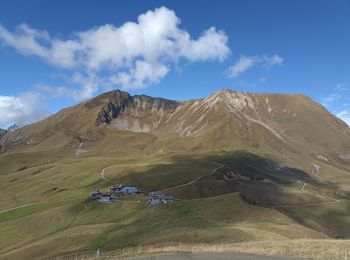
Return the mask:
{"type": "MultiPolygon", "coordinates": [[[[101,250],[99,259],[120,259],[121,257],[139,255],[189,252],[239,252],[257,255],[294,256],[307,259],[347,259],[350,256],[350,240],[291,239],[220,244],[178,243],[137,246],[106,252],[101,250]]],[[[56,256],[50,259],[62,258],[62,256],[56,256]]],[[[96,252],[65,255],[64,259],[96,259],[96,252]]]]}

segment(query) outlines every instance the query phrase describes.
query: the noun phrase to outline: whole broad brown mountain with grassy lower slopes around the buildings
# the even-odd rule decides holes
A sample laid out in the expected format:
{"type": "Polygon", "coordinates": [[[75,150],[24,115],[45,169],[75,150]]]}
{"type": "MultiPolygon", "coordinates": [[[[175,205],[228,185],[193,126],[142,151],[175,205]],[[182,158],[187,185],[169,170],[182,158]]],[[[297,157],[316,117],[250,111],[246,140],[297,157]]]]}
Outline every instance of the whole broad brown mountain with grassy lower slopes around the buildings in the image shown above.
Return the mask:
{"type": "Polygon", "coordinates": [[[30,205],[13,220],[0,213],[0,237],[13,238],[0,253],[12,258],[79,232],[84,240],[52,254],[128,247],[124,236],[145,245],[350,237],[350,129],[304,95],[222,89],[175,101],[115,90],[3,132],[0,145],[0,206],[30,205]],[[121,183],[182,202],[82,200],[121,183]]]}

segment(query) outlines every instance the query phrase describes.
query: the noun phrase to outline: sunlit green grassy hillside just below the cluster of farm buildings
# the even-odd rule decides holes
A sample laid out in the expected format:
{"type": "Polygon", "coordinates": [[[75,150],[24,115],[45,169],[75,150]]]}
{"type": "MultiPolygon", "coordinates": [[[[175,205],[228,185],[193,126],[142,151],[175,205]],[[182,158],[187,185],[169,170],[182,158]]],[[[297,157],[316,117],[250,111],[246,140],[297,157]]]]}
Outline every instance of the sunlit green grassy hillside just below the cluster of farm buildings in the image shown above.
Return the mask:
{"type": "Polygon", "coordinates": [[[105,205],[83,200],[50,204],[36,209],[35,214],[27,210],[27,216],[23,210],[17,210],[21,215],[19,218],[0,222],[3,258],[171,242],[219,243],[323,237],[274,210],[249,206],[236,194],[150,209],[140,203],[105,205]]]}

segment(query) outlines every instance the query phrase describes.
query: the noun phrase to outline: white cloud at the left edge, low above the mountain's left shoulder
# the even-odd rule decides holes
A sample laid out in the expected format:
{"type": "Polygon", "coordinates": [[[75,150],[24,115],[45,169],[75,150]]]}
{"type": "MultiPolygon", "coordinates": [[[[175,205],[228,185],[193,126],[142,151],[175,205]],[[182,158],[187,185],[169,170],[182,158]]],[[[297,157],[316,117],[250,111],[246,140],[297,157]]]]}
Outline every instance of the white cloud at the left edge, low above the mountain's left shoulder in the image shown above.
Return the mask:
{"type": "Polygon", "coordinates": [[[24,92],[19,96],[0,96],[0,126],[28,124],[47,116],[46,103],[37,92],[24,92]]]}

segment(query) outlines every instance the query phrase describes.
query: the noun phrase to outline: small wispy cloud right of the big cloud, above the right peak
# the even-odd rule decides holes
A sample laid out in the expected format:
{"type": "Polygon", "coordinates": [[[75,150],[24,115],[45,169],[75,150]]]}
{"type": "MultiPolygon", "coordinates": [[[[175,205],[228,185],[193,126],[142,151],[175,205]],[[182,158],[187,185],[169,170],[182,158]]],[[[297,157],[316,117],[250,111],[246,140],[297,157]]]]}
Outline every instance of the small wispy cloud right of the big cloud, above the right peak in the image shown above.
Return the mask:
{"type": "Polygon", "coordinates": [[[278,55],[241,56],[235,64],[228,68],[228,76],[230,78],[236,78],[254,66],[271,68],[275,65],[282,65],[283,61],[284,59],[278,55]]]}

